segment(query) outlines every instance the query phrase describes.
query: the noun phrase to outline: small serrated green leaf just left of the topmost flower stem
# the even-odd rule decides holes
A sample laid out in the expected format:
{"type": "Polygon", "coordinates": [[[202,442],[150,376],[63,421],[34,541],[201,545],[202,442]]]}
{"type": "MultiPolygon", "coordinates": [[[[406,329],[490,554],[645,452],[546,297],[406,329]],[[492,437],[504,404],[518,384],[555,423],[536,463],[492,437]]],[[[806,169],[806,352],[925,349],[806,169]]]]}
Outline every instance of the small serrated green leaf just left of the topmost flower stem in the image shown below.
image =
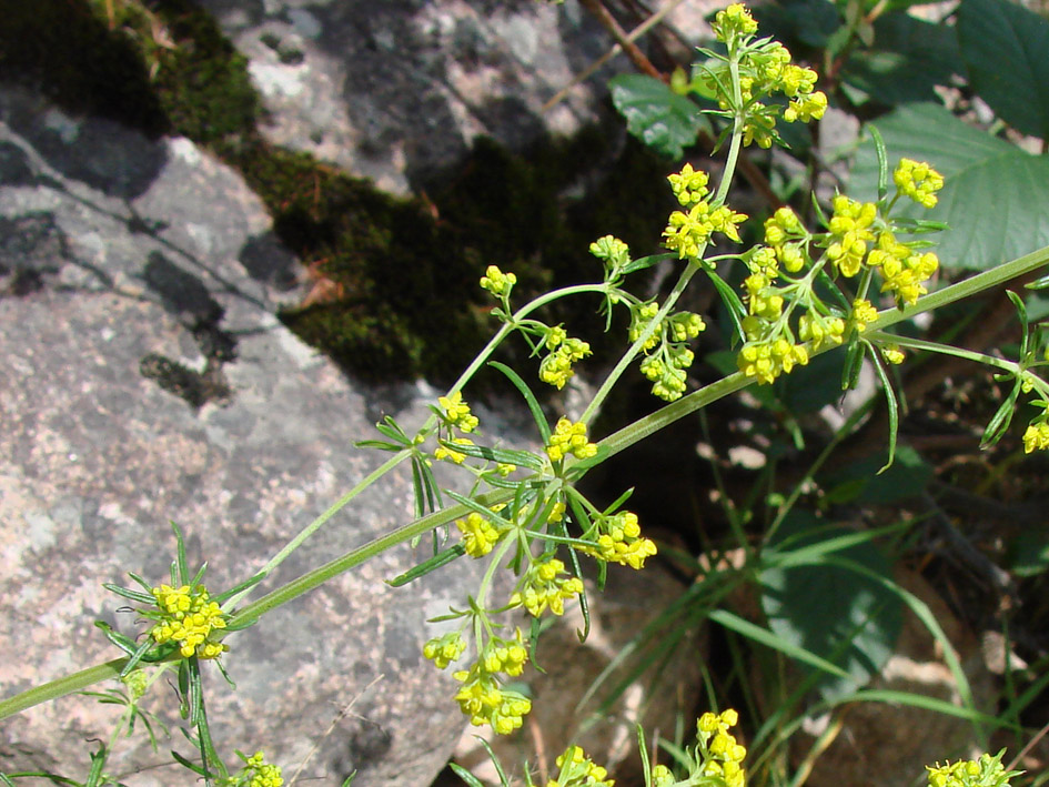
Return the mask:
{"type": "Polygon", "coordinates": [[[622,74],[614,78],[612,103],[626,118],[626,129],[649,148],[680,159],[694,145],[700,130],[710,125],[695,101],[678,95],[653,77],[622,74]]]}

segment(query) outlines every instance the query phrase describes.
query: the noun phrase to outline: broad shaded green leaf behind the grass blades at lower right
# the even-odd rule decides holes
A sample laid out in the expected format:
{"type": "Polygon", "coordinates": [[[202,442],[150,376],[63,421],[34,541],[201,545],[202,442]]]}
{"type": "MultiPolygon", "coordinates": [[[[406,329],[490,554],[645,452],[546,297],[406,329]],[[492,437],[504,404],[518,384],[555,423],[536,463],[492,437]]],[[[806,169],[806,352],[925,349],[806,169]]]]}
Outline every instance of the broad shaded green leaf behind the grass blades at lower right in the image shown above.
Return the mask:
{"type": "MultiPolygon", "coordinates": [[[[804,549],[848,534],[841,527],[821,527],[813,514],[795,509],[784,519],[777,538],[794,536],[797,548],[804,549]]],[[[886,579],[891,576],[891,565],[870,542],[857,543],[839,554],[886,579]]],[[[794,568],[771,566],[761,572],[758,582],[769,628],[780,639],[840,665],[847,673],[841,677],[821,672],[816,686],[825,699],[855,692],[891,655],[902,626],[902,604],[871,578],[817,563],[794,568]]]]}

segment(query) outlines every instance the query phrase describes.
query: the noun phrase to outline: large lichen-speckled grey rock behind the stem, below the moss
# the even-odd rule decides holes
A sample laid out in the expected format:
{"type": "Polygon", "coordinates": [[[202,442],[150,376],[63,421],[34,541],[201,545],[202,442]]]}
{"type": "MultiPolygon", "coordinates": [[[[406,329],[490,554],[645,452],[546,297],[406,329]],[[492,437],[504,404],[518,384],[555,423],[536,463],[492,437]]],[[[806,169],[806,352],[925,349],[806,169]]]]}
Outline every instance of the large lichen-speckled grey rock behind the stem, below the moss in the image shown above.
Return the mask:
{"type": "MultiPolygon", "coordinates": [[[[426,386],[366,391],[274,316],[301,295],[295,264],[240,178],[184,139],[151,142],[0,91],[0,693],[9,697],[120,654],[95,619],[141,620],[101,584],[167,577],[169,521],[208,585],[249,577],[384,460],[357,451],[385,413],[426,416],[426,386]]],[[[494,416],[490,416],[490,421],[494,416]]],[[[494,424],[493,424],[494,425],[494,424]]],[[[498,428],[498,426],[496,426],[498,428]]],[[[265,583],[276,587],[411,519],[402,465],[334,516],[265,583]]],[[[407,545],[230,638],[236,692],[210,670],[216,744],[262,748],[303,778],[425,785],[464,727],[451,679],[421,655],[426,617],[462,604],[476,567],[384,584],[425,557],[407,545]],[[352,709],[343,714],[346,708],[352,709]]],[[[161,687],[148,707],[176,722],[161,687]]],[[[83,778],[115,718],[65,698],[8,719],[0,769],[83,778]]],[[[138,738],[137,738],[138,740],[138,738]]],[[[141,770],[180,735],[121,745],[135,787],[186,785],[141,770]]]]}

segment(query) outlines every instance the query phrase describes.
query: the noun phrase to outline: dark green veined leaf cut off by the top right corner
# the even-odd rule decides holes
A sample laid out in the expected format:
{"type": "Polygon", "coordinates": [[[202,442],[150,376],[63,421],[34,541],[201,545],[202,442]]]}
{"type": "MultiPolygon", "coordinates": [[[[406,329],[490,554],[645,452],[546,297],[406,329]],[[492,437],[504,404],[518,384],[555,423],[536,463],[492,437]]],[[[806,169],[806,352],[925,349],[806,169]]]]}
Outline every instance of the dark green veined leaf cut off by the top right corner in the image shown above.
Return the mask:
{"type": "Polygon", "coordinates": [[[1049,139],[1049,21],[1006,0],[965,0],[958,42],[970,84],[998,117],[1049,139]]]}

